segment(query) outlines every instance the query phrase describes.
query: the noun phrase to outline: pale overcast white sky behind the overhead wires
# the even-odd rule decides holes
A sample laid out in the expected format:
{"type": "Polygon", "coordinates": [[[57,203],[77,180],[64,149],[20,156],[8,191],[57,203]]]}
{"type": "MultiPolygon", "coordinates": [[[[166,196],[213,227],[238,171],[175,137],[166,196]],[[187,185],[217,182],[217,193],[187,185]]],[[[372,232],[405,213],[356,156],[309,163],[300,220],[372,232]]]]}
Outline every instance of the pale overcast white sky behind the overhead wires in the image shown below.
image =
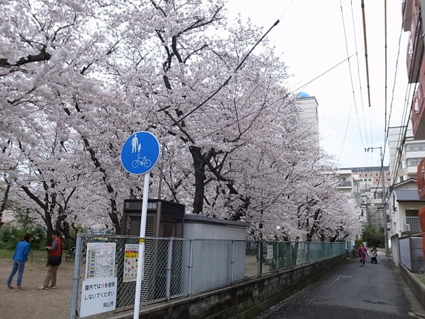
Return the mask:
{"type": "Polygon", "coordinates": [[[388,123],[406,123],[409,32],[402,32],[402,1],[387,0],[387,58],[385,0],[364,3],[370,106],[361,0],[229,1],[231,15],[240,12],[265,32],[279,19],[267,39],[289,68],[290,91],[317,100],[320,145],[341,168],[380,166],[381,150],[389,165],[388,123]],[[365,152],[369,147],[376,148],[365,152]]]}

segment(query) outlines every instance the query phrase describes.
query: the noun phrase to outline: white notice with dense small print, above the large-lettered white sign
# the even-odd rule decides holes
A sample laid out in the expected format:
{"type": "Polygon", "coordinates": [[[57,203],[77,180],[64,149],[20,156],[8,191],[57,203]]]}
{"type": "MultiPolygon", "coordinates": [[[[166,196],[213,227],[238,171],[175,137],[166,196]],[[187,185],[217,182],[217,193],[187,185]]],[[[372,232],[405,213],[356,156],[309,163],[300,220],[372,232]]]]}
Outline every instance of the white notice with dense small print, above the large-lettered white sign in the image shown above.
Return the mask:
{"type": "Polygon", "coordinates": [[[86,279],[114,276],[115,246],[115,243],[87,244],[86,279]]]}

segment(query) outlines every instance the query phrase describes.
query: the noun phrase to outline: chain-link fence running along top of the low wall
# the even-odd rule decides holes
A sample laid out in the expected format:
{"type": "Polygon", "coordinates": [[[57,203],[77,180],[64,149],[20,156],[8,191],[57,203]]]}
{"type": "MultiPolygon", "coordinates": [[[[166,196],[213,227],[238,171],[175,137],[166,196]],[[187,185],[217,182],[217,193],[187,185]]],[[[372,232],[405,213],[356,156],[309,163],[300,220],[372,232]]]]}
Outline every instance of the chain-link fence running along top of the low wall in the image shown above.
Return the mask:
{"type": "MultiPolygon", "coordinates": [[[[117,278],[115,311],[134,307],[138,240],[117,235],[77,237],[71,319],[86,316],[80,313],[81,303],[92,296],[84,294],[90,289],[84,281],[101,276],[117,278]]],[[[150,237],[145,241],[141,305],[334,257],[346,249],[345,243],[150,237]]]]}

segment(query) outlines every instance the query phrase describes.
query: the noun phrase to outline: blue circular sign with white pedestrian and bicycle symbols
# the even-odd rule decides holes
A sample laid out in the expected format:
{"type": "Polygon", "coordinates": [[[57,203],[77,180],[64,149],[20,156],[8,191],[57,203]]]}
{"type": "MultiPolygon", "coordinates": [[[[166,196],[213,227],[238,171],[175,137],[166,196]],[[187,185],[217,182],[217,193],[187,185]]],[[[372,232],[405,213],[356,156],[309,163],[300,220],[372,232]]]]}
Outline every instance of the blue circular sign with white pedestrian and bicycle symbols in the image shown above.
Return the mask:
{"type": "Polygon", "coordinates": [[[154,168],[160,155],[158,139],[149,132],[136,132],[121,147],[121,164],[130,174],[141,175],[154,168]]]}

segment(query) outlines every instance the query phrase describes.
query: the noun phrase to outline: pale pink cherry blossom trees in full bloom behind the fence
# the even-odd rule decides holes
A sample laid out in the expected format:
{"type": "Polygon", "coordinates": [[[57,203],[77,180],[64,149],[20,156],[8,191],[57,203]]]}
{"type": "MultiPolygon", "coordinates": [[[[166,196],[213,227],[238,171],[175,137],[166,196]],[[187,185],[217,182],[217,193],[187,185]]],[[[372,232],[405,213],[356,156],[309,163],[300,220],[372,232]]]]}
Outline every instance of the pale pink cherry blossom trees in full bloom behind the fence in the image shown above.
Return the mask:
{"type": "Polygon", "coordinates": [[[3,3],[2,149],[16,145],[12,193],[49,231],[81,222],[121,232],[121,203],[142,193],[142,179],[121,167],[121,145],[148,130],[165,145],[151,197],[249,221],[256,238],[350,233],[335,167],[294,120],[287,68],[267,39],[250,52],[263,30],[230,21],[225,5],[3,3]]]}

